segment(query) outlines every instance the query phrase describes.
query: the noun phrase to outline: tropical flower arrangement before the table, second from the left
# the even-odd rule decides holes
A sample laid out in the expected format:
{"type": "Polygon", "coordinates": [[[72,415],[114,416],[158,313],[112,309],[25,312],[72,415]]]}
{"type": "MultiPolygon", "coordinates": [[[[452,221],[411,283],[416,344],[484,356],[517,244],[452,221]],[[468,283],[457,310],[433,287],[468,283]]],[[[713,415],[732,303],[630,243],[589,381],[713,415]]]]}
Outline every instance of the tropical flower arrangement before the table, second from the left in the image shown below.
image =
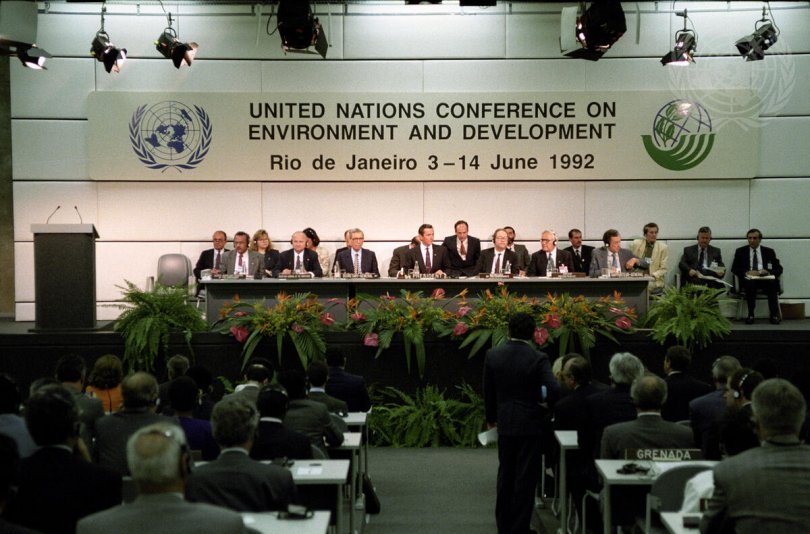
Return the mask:
{"type": "Polygon", "coordinates": [[[363,344],[377,347],[375,357],[391,346],[394,334],[401,333],[405,346],[405,361],[411,369],[412,355],[416,355],[419,376],[425,373],[425,334],[446,333],[446,325],[453,313],[445,308],[451,302],[445,299],[444,289],[435,289],[429,297],[421,291],[401,290],[395,297],[386,293],[379,297],[358,295],[347,303],[346,328],[363,335],[363,344]]]}

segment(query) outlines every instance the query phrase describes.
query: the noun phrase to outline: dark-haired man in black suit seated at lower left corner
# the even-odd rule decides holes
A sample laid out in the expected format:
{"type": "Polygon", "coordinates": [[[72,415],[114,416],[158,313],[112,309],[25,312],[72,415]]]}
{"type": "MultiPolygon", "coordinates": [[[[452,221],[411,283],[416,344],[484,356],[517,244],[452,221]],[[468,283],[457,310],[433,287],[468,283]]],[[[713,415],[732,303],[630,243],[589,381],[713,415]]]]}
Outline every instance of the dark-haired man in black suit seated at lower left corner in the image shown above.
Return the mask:
{"type": "Polygon", "coordinates": [[[25,422],[40,448],[22,461],[18,492],[6,510],[11,521],[70,533],[82,517],[121,502],[121,477],[75,452],[79,407],[67,388],[52,384],[36,390],[26,402],[25,422]]]}

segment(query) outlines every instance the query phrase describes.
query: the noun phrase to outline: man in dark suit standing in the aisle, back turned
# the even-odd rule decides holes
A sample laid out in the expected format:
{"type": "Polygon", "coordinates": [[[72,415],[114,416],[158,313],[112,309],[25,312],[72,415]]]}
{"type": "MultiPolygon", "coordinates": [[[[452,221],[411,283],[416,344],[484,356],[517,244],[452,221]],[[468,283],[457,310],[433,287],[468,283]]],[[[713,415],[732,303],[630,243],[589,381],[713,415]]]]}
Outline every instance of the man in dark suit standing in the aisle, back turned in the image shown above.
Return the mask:
{"type": "Polygon", "coordinates": [[[541,435],[550,431],[543,428],[541,403],[553,402],[559,387],[548,357],[531,345],[535,326],[529,314],[515,314],[509,321],[510,339],[488,350],[484,360],[487,426],[498,429],[495,518],[500,533],[529,532],[541,435]]]}

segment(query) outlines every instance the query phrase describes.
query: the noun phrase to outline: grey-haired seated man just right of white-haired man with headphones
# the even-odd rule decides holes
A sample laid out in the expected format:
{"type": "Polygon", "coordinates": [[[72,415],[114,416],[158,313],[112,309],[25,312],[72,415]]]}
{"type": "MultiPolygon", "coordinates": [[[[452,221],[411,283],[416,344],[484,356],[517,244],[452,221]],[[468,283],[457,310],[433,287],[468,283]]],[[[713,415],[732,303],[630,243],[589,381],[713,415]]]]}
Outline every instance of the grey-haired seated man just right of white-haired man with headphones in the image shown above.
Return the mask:
{"type": "Polygon", "coordinates": [[[259,411],[244,399],[223,399],[211,414],[219,458],[197,467],[186,481],[186,498],[237,512],[284,510],[296,500],[292,473],[248,456],[259,411]]]}

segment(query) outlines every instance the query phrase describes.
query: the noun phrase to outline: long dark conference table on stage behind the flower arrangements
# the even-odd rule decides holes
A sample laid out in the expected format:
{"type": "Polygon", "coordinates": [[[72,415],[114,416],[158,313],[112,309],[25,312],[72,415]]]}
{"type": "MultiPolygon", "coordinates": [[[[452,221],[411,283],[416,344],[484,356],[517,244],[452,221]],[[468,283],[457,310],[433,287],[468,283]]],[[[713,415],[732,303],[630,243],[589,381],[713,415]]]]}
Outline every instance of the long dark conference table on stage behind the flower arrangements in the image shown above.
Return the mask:
{"type": "MultiPolygon", "coordinates": [[[[467,299],[478,298],[478,295],[489,289],[498,291],[501,286],[519,296],[544,298],[549,293],[583,295],[587,298],[599,298],[621,293],[628,305],[633,306],[639,315],[647,313],[649,306],[648,287],[652,280],[647,276],[623,276],[615,278],[262,278],[252,280],[228,278],[201,280],[205,287],[205,311],[209,325],[219,319],[219,311],[234,296],[239,295],[242,302],[256,303],[264,300],[267,305],[275,304],[279,292],[287,294],[313,293],[323,303],[329,299],[347,301],[362,294],[374,296],[386,293],[399,296],[400,290],[421,291],[429,296],[434,289],[442,288],[446,298],[451,298],[467,289],[467,299]]],[[[334,306],[330,312],[338,320],[346,317],[345,306],[334,306]]]]}

